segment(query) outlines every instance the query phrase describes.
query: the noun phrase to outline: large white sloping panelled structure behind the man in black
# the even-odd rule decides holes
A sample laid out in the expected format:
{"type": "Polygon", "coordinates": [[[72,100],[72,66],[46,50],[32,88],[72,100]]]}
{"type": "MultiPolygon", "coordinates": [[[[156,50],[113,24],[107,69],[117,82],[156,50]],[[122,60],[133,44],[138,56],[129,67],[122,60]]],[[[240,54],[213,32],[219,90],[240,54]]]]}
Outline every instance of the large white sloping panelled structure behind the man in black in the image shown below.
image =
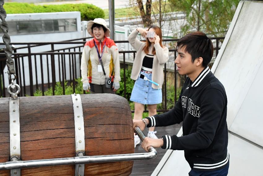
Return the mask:
{"type": "MultiPolygon", "coordinates": [[[[228,175],[262,176],[263,1],[239,2],[211,71],[228,99],[228,175]]],[[[168,150],[152,176],[181,176],[189,171],[183,151],[168,150]]]]}

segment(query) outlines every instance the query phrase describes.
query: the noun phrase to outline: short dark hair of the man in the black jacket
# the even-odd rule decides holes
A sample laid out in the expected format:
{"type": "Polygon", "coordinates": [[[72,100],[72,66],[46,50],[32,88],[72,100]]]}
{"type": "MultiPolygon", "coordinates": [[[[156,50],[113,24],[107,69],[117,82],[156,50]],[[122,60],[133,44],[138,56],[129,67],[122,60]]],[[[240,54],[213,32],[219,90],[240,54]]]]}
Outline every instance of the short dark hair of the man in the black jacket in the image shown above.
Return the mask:
{"type": "Polygon", "coordinates": [[[192,32],[180,38],[177,42],[176,49],[182,47],[185,47],[185,51],[192,56],[192,62],[194,62],[196,58],[202,57],[202,65],[204,67],[206,67],[212,59],[214,51],[213,43],[203,32],[192,32]]]}

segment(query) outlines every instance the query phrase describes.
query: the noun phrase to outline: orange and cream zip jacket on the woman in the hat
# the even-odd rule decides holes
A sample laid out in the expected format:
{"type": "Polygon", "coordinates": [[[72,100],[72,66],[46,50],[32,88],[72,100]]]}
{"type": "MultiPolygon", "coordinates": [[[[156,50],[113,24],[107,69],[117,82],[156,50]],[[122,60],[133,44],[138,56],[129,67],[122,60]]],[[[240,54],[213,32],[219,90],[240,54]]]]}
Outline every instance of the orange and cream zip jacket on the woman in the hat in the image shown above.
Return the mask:
{"type": "Polygon", "coordinates": [[[100,55],[106,42],[101,59],[106,77],[110,77],[114,82],[119,82],[121,80],[119,51],[114,41],[107,37],[105,37],[101,43],[96,38],[93,38],[92,40],[85,43],[80,65],[82,77],[81,81],[83,83],[93,83],[98,85],[105,84],[105,76],[103,71],[98,72],[97,65],[100,64],[100,61],[93,40],[97,44],[100,55]]]}

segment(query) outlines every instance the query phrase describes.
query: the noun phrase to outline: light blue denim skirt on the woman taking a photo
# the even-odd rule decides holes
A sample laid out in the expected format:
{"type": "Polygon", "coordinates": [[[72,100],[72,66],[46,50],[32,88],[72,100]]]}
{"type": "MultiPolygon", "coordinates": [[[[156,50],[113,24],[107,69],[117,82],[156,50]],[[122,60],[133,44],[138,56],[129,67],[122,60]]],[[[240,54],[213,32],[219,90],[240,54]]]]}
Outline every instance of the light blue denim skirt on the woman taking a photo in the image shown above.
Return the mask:
{"type": "MultiPolygon", "coordinates": [[[[141,72],[141,74],[144,74],[149,80],[152,80],[151,73],[141,72]]],[[[162,89],[152,88],[152,83],[141,79],[139,75],[132,88],[130,101],[144,105],[162,103],[162,89]]]]}

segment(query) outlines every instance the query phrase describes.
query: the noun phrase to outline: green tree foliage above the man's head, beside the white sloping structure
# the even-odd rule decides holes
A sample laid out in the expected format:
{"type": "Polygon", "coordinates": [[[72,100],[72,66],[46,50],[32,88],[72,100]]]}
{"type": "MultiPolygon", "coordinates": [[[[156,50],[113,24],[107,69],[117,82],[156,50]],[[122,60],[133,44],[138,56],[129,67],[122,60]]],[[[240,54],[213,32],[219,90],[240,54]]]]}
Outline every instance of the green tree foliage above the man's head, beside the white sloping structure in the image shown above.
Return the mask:
{"type": "MultiPolygon", "coordinates": [[[[175,9],[186,14],[187,24],[183,35],[193,30],[203,31],[213,37],[223,37],[234,16],[240,0],[169,0],[175,9]],[[200,5],[200,9],[198,8],[200,5]]],[[[180,37],[180,36],[176,36],[180,37]]]]}

